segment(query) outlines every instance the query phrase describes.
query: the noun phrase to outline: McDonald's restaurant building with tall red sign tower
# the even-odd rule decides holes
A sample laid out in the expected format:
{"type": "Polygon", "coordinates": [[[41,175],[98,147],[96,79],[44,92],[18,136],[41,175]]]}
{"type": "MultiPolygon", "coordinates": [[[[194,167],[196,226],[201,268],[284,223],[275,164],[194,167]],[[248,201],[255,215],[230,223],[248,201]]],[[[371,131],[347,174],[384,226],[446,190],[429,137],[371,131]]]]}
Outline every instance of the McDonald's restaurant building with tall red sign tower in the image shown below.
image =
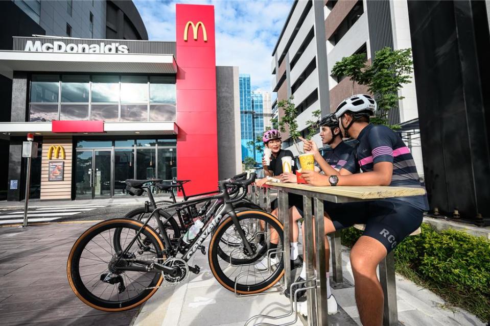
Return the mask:
{"type": "Polygon", "coordinates": [[[22,141],[35,134],[31,197],[128,195],[126,179],[188,179],[215,190],[241,170],[237,67],[217,67],[214,7],[177,5],[176,41],[14,37],[8,200],[22,200],[22,141]],[[219,140],[219,141],[218,141],[219,140]]]}

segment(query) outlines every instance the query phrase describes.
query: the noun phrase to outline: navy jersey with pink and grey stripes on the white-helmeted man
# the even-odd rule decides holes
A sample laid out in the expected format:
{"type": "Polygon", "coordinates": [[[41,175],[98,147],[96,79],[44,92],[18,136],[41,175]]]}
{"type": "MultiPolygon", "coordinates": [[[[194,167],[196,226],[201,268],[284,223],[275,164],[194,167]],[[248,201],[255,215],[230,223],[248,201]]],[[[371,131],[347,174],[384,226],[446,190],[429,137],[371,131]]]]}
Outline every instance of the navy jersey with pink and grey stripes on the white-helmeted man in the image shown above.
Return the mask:
{"type": "MultiPolygon", "coordinates": [[[[410,150],[398,134],[386,126],[368,124],[357,137],[359,144],[353,151],[344,169],[355,173],[357,168],[363,172],[374,169],[374,165],[380,162],[393,164],[393,174],[390,186],[420,187],[417,168],[410,150]]],[[[390,201],[402,201],[427,210],[426,196],[397,197],[387,199],[390,201]]]]}

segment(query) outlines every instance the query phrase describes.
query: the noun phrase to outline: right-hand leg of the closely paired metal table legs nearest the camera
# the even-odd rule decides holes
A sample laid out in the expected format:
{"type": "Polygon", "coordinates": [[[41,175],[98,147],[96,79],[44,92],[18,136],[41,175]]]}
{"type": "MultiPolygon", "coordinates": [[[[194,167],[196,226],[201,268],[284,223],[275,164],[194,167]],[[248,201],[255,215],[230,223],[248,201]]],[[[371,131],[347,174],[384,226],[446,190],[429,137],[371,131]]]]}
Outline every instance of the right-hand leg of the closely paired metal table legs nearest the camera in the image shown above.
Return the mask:
{"type": "MultiPolygon", "coordinates": [[[[327,304],[326,273],[329,271],[325,261],[325,222],[323,219],[323,201],[314,198],[315,206],[315,242],[316,242],[316,303],[319,325],[329,324],[329,308],[327,304]]],[[[327,240],[328,241],[328,240],[327,240]]]]}

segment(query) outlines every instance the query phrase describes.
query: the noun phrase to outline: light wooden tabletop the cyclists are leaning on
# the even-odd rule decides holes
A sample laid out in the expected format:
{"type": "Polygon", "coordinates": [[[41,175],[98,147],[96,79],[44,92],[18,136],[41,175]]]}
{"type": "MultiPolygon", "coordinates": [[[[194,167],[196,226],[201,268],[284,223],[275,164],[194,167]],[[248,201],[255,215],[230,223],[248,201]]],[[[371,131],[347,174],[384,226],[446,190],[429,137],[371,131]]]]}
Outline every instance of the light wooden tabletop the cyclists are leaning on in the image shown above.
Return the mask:
{"type": "Polygon", "coordinates": [[[358,199],[380,199],[392,197],[405,197],[424,195],[424,188],[410,187],[390,187],[390,186],[336,186],[336,187],[316,187],[306,184],[296,183],[274,183],[266,184],[270,188],[292,188],[306,190],[330,195],[345,196],[358,199]]]}

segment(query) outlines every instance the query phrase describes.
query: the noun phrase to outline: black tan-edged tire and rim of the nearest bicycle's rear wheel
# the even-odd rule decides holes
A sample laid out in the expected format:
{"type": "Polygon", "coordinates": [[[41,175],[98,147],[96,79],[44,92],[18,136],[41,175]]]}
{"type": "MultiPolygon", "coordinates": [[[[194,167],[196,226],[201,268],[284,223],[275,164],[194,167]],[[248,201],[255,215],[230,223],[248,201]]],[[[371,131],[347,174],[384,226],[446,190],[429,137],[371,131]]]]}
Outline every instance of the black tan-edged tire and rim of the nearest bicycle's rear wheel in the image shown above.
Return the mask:
{"type": "MultiPolygon", "coordinates": [[[[85,246],[97,235],[100,235],[101,233],[109,230],[109,236],[110,236],[110,230],[116,228],[119,229],[128,228],[137,231],[141,229],[142,226],[143,223],[136,221],[134,219],[123,219],[123,218],[110,219],[110,220],[102,221],[90,227],[88,230],[82,233],[82,235],[77,239],[77,241],[74,243],[68,255],[68,261],[66,264],[66,273],[67,273],[70,287],[72,288],[73,292],[77,295],[77,297],[80,300],[82,300],[83,303],[98,310],[118,312],[118,311],[129,310],[141,305],[142,303],[146,302],[146,300],[148,300],[156,292],[158,286],[160,286],[160,284],[164,280],[163,275],[160,272],[146,273],[146,274],[154,274],[153,279],[148,278],[149,280],[151,280],[151,283],[149,283],[148,285],[150,289],[143,288],[144,290],[142,291],[141,294],[137,294],[135,297],[129,298],[130,290],[128,289],[129,288],[128,286],[128,288],[126,288],[128,291],[128,300],[117,300],[117,301],[104,300],[101,297],[98,297],[97,295],[92,293],[90,290],[87,289],[87,287],[85,286],[82,280],[83,276],[80,275],[80,270],[79,270],[81,267],[80,259],[83,258],[81,257],[83,254],[83,250],[85,249],[85,246]]],[[[151,244],[154,245],[155,248],[157,249],[156,250],[157,253],[154,254],[155,258],[165,259],[165,257],[161,254],[161,251],[164,250],[164,244],[162,243],[161,239],[159,238],[155,230],[153,230],[152,228],[148,227],[148,225],[146,225],[146,227],[142,230],[142,234],[144,234],[150,240],[151,244]]],[[[114,255],[117,254],[114,253],[114,255]]],[[[103,267],[104,266],[102,266],[102,268],[103,267]]],[[[96,273],[96,277],[97,274],[98,273],[96,273]]],[[[92,288],[95,288],[95,286],[92,288]]],[[[118,295],[118,299],[120,299],[119,295],[118,295]]]]}

